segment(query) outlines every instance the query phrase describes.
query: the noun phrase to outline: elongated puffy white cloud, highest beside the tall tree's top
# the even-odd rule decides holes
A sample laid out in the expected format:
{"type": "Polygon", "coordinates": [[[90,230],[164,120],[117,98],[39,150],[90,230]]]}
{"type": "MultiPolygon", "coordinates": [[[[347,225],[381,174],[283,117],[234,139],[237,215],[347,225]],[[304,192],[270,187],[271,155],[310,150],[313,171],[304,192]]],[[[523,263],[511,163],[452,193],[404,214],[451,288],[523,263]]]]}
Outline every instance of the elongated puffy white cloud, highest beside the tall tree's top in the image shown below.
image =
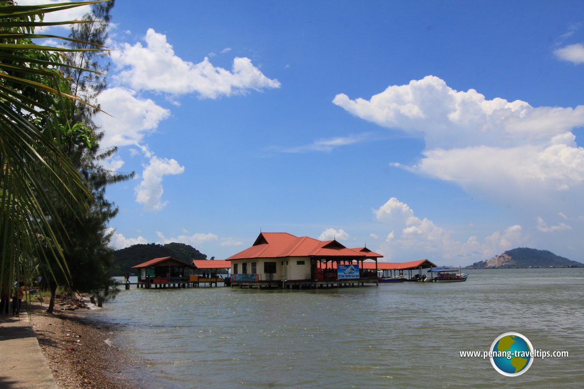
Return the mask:
{"type": "Polygon", "coordinates": [[[280,87],[252,65],[249,58],[236,57],[231,71],[213,66],[208,58],[199,64],[175,55],[164,34],[148,29],[146,46],[124,43],[112,52],[120,68],[116,79],[137,90],[154,90],[171,94],[198,93],[201,99],[217,99],[248,90],[280,87]]]}

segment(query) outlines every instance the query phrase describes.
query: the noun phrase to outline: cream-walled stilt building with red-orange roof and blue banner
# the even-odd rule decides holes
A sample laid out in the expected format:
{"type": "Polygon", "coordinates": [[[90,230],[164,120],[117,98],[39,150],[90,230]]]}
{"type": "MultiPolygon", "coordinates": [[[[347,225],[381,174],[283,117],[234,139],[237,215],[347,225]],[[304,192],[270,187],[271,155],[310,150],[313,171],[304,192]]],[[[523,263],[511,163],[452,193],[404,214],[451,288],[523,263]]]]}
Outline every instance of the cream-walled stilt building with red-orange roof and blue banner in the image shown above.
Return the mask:
{"type": "Polygon", "coordinates": [[[336,240],[263,232],[251,247],[227,261],[231,261],[231,287],[300,289],[378,285],[377,259],[382,257],[336,240]]]}

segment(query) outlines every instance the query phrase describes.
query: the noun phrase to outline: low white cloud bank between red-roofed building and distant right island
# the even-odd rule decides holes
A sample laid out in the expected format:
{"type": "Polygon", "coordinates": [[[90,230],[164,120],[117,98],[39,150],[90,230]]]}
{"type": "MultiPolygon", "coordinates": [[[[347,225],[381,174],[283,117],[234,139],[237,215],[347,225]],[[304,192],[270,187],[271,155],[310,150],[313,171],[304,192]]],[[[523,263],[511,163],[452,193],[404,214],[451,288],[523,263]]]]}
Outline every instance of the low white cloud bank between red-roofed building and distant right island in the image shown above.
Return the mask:
{"type": "Polygon", "coordinates": [[[373,209],[373,213],[387,230],[391,230],[376,250],[390,262],[427,258],[439,264],[467,265],[520,246],[525,241],[519,225],[494,232],[482,242],[476,236],[455,237],[453,231],[428,218],[419,218],[408,204],[395,197],[373,209]]]}

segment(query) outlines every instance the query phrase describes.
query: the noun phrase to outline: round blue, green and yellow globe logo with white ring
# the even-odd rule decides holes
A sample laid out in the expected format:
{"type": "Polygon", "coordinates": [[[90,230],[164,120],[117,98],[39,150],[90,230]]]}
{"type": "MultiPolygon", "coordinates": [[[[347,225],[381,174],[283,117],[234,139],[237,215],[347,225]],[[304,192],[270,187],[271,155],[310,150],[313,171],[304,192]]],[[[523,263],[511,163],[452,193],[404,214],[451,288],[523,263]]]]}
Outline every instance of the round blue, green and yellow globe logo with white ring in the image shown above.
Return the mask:
{"type": "Polygon", "coordinates": [[[533,346],[519,332],[505,332],[493,341],[491,365],[503,376],[516,377],[527,372],[533,363],[533,346]]]}

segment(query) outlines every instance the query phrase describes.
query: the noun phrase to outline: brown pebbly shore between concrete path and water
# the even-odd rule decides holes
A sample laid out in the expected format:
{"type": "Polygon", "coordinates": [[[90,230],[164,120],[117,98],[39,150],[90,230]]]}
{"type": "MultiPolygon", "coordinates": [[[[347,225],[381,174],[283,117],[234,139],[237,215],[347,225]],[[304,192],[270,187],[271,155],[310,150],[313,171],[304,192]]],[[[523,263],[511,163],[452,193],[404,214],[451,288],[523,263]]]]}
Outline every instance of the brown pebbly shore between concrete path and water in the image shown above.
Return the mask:
{"type": "Polygon", "coordinates": [[[47,304],[30,306],[30,321],[43,355],[60,389],[139,389],[124,379],[122,369],[140,362],[116,347],[110,328],[81,317],[83,309],[46,313],[47,304]]]}

